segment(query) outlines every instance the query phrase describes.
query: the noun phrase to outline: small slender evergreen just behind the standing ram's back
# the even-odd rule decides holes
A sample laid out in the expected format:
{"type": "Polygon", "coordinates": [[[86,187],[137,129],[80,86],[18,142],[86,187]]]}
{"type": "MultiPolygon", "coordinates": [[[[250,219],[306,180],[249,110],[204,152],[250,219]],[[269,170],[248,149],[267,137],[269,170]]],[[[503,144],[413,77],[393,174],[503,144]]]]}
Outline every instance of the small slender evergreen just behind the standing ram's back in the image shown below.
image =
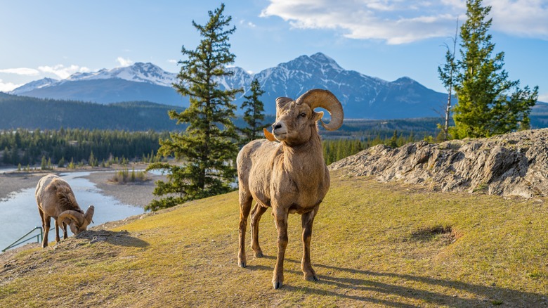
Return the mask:
{"type": "Polygon", "coordinates": [[[242,134],[244,134],[242,138],[243,144],[262,136],[262,130],[266,127],[266,125],[262,123],[264,120],[264,104],[259,97],[264,94],[264,91],[261,90],[259,80],[253,79],[249,91],[251,94],[244,96],[245,101],[242,103],[244,121],[247,123],[247,127],[240,129],[242,134]]]}

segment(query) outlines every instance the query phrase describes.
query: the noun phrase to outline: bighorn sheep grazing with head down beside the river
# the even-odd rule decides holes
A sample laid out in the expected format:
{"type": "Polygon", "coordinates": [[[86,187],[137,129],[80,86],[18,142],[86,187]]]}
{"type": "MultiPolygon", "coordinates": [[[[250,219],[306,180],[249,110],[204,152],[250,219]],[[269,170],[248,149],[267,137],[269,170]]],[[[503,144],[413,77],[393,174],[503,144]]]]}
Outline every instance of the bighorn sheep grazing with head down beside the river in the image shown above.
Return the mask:
{"type": "Polygon", "coordinates": [[[92,222],[93,212],[95,207],[90,205],[84,214],[80,209],[72,188],[64,179],[55,174],[48,174],[38,181],[36,186],[36,202],[38,211],[42,219],[42,228],[44,229],[44,239],[42,247],[48,246],[48,232],[50,227],[50,218],[53,217],[56,221],[56,242],[59,242],[59,223],[64,231],[63,238],[67,238],[67,225],[70,226],[70,231],[78,234],[85,231],[87,226],[92,222]]]}

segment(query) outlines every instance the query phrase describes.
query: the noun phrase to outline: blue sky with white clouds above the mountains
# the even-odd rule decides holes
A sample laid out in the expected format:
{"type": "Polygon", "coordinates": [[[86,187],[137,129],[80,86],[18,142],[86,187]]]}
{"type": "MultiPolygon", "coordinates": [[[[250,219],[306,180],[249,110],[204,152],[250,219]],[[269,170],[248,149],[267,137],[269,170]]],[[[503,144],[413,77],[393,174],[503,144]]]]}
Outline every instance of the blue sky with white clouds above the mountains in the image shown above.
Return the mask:
{"type": "MultiPolygon", "coordinates": [[[[259,72],[322,52],[347,70],[393,81],[407,76],[436,91],[444,44],[464,0],[226,0],[237,30],[235,66],[259,72]]],[[[43,77],[151,62],[178,72],[181,46],[200,41],[221,1],[0,0],[0,91],[43,77]]],[[[495,52],[521,86],[548,102],[548,0],[484,0],[495,52]]]]}

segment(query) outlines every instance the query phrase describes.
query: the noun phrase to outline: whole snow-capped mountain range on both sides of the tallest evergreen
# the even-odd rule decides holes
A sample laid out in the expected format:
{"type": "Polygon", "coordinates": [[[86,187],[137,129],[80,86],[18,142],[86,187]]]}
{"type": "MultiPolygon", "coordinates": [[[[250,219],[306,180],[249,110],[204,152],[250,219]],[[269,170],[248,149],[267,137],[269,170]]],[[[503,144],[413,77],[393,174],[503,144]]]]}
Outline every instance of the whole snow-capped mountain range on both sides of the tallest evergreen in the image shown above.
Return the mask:
{"type": "MultiPolygon", "coordinates": [[[[229,70],[233,75],[218,79],[218,83],[226,89],[244,89],[235,103],[241,105],[243,96],[249,95],[250,84],[256,78],[265,91],[261,101],[267,114],[275,113],[275,98],[297,98],[314,88],[332,91],[343,103],[346,118],[436,117],[436,110],[440,110],[447,99],[447,94],[426,89],[408,77],[388,82],[346,70],[323,53],[299,56],[256,74],[237,67],[229,70]]],[[[52,80],[30,82],[11,94],[96,103],[151,101],[188,106],[188,98],[177,94],[171,86],[177,81],[176,74],[152,63],[135,63],[125,68],[77,73],[67,79],[52,80]]]]}

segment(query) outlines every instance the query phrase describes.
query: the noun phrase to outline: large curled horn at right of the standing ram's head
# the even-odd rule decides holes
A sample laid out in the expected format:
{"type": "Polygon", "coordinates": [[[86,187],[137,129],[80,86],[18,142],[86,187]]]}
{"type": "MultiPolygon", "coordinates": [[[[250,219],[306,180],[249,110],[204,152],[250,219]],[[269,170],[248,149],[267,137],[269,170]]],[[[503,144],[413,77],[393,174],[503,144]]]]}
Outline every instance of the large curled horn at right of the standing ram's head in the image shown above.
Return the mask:
{"type": "Polygon", "coordinates": [[[306,103],[310,108],[324,108],[331,115],[331,121],[325,124],[322,120],[322,127],[328,131],[334,131],[342,126],[344,113],[341,102],[330,91],[323,89],[312,89],[306,91],[295,101],[296,104],[306,103]]]}

